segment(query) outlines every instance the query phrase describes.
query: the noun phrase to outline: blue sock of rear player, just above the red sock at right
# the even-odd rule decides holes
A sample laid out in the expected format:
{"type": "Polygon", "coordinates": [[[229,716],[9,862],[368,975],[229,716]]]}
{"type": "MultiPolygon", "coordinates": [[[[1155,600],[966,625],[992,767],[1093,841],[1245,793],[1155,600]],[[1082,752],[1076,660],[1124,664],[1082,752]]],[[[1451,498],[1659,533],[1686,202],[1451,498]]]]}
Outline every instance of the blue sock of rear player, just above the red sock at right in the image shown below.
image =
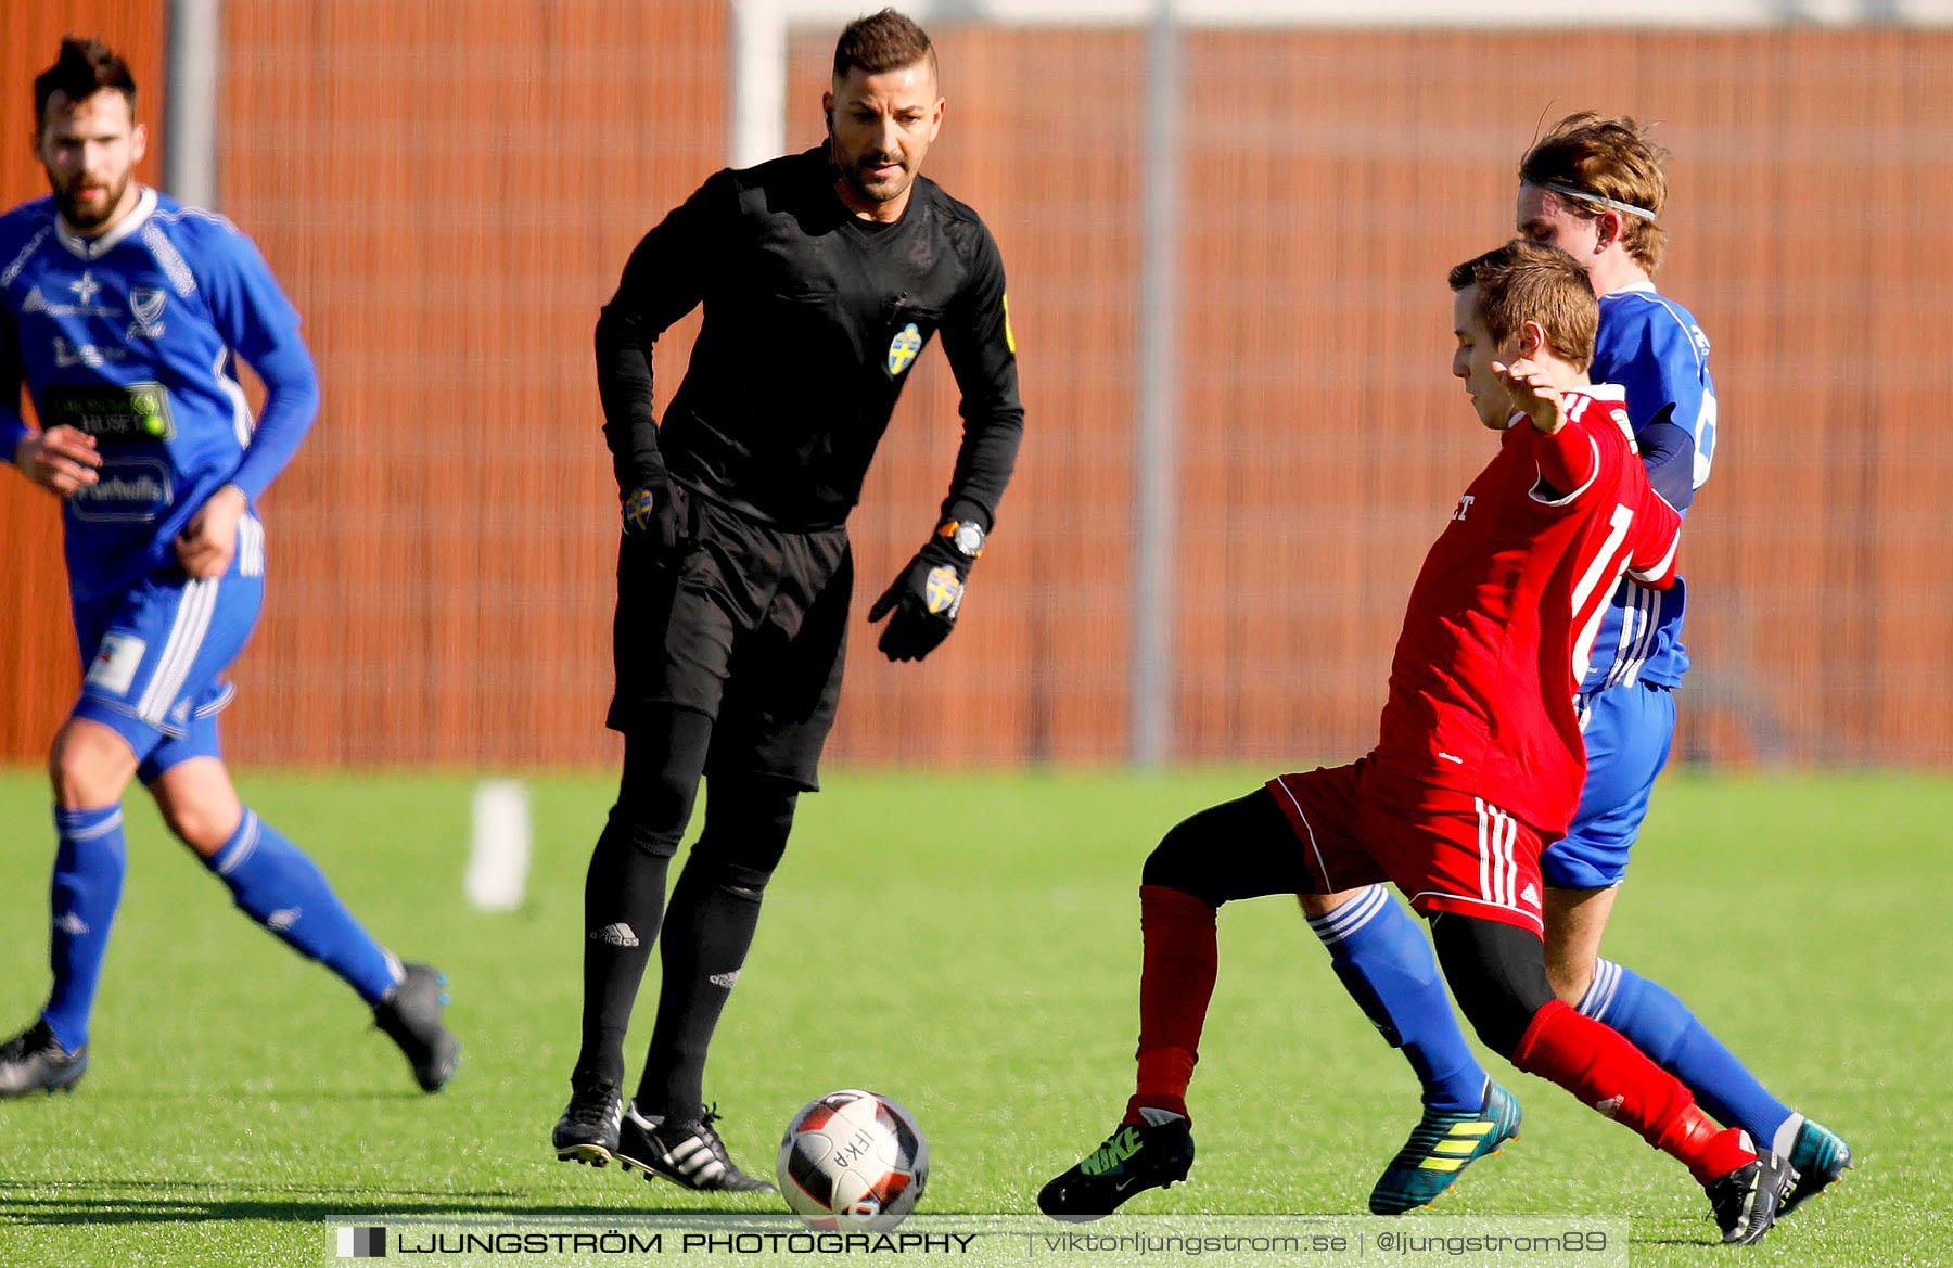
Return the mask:
{"type": "Polygon", "coordinates": [[[1769,1094],[1689,1006],[1660,983],[1596,961],[1594,983],[1580,1012],[1629,1037],[1656,1065],[1682,1080],[1695,1102],[1726,1127],[1742,1127],[1767,1147],[1791,1118],[1791,1108],[1769,1094]]]}

